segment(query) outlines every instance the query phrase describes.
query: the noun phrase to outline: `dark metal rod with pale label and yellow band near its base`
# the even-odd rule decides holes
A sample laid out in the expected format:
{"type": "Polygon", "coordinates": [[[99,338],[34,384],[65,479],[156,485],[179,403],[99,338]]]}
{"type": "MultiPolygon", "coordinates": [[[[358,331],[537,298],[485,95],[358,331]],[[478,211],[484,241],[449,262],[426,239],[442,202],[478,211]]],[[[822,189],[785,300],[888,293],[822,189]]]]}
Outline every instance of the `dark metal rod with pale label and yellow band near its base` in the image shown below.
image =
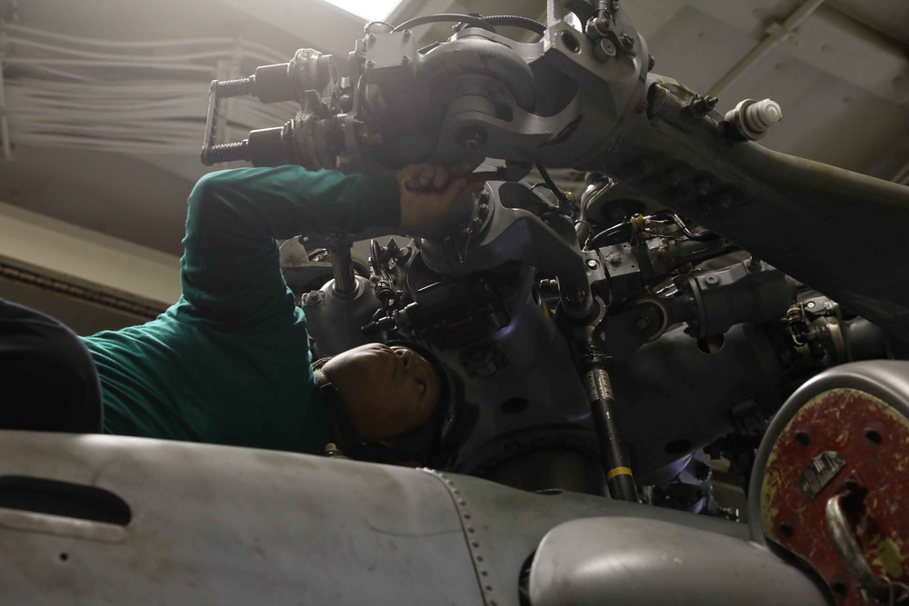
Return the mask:
{"type": "Polygon", "coordinates": [[[596,437],[600,441],[600,457],[606,472],[609,495],[622,501],[638,502],[631,462],[615,419],[615,397],[604,354],[596,347],[588,346],[581,356],[581,370],[590,410],[594,414],[596,437]]]}

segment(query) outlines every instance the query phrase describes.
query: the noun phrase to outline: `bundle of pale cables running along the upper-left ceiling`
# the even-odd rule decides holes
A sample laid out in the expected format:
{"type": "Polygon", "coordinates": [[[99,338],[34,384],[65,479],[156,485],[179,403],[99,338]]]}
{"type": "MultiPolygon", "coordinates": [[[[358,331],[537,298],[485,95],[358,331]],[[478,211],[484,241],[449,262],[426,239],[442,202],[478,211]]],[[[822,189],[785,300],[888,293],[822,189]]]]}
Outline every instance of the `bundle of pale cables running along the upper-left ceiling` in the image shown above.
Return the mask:
{"type": "MultiPolygon", "coordinates": [[[[242,39],[115,41],[0,24],[5,114],[14,144],[125,154],[195,152],[205,130],[208,86],[240,75],[241,63],[286,60],[242,39]]],[[[224,141],[285,122],[295,104],[225,104],[224,141]]]]}

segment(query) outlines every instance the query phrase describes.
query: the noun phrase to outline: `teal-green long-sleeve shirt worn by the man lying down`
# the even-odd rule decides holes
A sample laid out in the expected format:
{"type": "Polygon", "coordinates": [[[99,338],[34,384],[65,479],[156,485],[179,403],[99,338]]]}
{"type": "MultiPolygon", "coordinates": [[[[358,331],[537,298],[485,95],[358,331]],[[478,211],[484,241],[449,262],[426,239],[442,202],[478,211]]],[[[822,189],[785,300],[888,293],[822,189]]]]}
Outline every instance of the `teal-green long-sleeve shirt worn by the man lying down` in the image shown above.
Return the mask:
{"type": "Polygon", "coordinates": [[[328,413],[275,238],[400,221],[392,177],[299,166],[208,174],[189,196],[183,296],[154,321],[85,338],[107,433],[322,452],[328,413]]]}

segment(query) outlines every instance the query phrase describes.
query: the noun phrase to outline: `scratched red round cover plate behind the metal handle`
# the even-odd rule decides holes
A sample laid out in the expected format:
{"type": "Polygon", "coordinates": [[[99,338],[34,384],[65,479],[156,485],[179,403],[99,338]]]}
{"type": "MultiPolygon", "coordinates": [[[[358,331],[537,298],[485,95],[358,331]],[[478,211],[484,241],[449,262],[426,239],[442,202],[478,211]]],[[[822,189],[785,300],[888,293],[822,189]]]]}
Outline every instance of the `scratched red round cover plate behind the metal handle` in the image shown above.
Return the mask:
{"type": "Polygon", "coordinates": [[[764,536],[811,564],[837,604],[864,604],[827,530],[837,493],[874,575],[909,583],[909,419],[854,389],[807,402],[774,443],[761,486],[764,536]],[[848,504],[847,504],[848,503],[848,504]]]}

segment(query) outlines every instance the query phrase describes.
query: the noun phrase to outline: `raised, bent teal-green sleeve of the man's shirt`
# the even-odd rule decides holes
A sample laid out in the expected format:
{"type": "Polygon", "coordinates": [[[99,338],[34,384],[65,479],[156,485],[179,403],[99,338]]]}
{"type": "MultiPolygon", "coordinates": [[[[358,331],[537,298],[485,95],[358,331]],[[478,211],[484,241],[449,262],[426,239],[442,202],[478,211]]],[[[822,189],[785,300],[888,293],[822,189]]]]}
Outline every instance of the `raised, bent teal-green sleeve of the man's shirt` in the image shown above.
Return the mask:
{"type": "Polygon", "coordinates": [[[393,227],[400,214],[392,176],[300,166],[207,174],[189,196],[181,313],[238,327],[292,322],[275,238],[393,227]]]}

